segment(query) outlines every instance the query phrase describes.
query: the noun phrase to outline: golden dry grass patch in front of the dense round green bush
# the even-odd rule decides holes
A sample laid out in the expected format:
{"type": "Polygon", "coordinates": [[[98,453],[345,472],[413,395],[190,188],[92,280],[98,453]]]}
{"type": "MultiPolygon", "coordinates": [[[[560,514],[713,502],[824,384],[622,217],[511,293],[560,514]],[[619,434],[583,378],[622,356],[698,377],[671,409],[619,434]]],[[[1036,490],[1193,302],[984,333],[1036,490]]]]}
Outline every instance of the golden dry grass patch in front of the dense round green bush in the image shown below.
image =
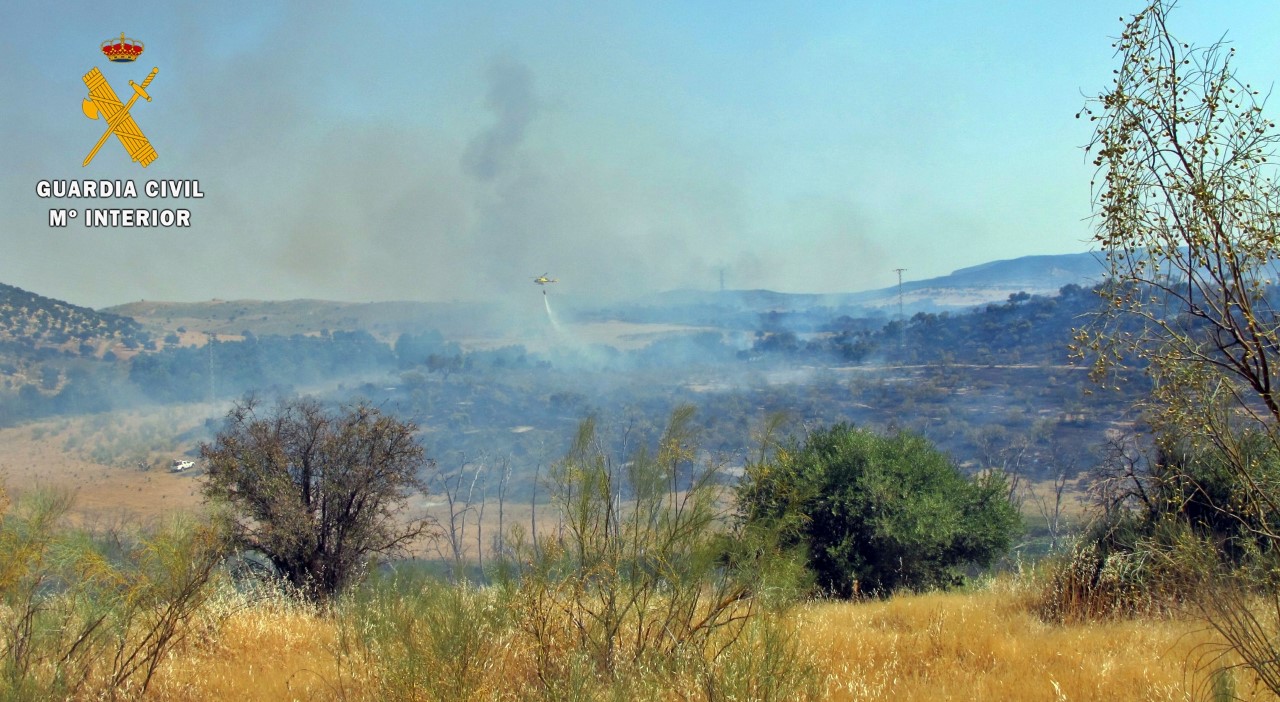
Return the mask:
{"type": "MultiPolygon", "coordinates": [[[[1199,699],[1216,638],[1190,620],[1041,621],[1019,587],[815,603],[796,624],[827,699],[1199,699]]],[[[1240,690],[1248,680],[1236,679],[1240,690]]]]}

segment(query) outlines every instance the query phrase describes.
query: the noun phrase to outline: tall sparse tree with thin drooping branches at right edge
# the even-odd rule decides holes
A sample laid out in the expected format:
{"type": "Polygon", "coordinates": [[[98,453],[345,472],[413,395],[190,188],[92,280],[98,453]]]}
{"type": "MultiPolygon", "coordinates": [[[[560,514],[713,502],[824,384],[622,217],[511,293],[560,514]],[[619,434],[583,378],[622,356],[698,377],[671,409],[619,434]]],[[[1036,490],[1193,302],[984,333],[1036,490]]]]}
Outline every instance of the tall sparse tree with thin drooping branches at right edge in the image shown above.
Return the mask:
{"type": "MultiPolygon", "coordinates": [[[[1147,418],[1160,448],[1220,457],[1239,489],[1213,509],[1274,551],[1280,135],[1263,114],[1262,91],[1236,77],[1235,49],[1176,38],[1174,5],[1153,0],[1125,24],[1114,85],[1082,113],[1097,123],[1096,242],[1112,283],[1105,290],[1111,314],[1078,341],[1094,354],[1100,378],[1138,361],[1153,383],[1147,418]],[[1260,442],[1266,455],[1254,450],[1260,442]]],[[[1146,497],[1142,480],[1129,484],[1146,497]]],[[[1217,556],[1206,551],[1206,560],[1217,556]]],[[[1215,578],[1221,592],[1248,589],[1243,573],[1215,567],[1224,570],[1215,578]]],[[[1270,623],[1256,626],[1245,600],[1202,600],[1208,621],[1280,693],[1280,601],[1272,600],[1270,623]]]]}

